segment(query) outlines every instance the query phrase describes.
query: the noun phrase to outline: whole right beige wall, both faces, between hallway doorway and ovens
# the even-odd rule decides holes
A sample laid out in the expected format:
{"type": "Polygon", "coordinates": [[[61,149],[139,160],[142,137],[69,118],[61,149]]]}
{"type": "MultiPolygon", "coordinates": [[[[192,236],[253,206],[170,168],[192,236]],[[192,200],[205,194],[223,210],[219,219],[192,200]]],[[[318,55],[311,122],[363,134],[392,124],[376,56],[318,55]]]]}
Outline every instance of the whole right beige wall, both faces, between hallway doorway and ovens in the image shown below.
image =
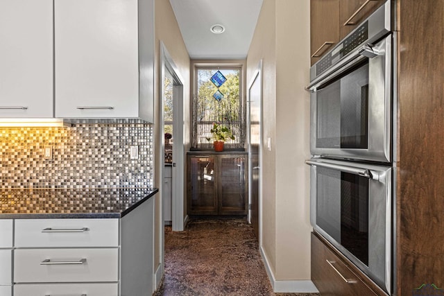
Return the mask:
{"type": "Polygon", "coordinates": [[[247,82],[263,59],[262,250],[276,281],[310,279],[309,15],[309,0],[264,0],[247,58],[247,82]]]}

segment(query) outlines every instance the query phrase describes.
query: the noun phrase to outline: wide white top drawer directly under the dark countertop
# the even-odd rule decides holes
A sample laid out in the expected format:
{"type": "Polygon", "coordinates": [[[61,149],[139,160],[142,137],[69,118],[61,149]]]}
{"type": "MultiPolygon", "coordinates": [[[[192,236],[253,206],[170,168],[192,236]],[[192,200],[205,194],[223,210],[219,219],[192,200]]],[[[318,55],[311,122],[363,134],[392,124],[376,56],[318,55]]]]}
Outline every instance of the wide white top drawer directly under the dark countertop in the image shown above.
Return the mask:
{"type": "Polygon", "coordinates": [[[17,219],[15,247],[117,247],[119,219],[17,219]]]}

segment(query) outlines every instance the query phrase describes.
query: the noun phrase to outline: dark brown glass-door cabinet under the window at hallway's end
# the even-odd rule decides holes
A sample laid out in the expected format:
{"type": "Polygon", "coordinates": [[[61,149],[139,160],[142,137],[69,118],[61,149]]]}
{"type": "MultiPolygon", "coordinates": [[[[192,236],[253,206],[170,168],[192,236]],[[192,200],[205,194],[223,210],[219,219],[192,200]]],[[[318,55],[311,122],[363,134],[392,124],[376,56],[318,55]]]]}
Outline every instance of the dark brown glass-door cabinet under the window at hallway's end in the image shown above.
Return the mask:
{"type": "Polygon", "coordinates": [[[246,215],[247,155],[187,155],[189,215],[246,215]]]}

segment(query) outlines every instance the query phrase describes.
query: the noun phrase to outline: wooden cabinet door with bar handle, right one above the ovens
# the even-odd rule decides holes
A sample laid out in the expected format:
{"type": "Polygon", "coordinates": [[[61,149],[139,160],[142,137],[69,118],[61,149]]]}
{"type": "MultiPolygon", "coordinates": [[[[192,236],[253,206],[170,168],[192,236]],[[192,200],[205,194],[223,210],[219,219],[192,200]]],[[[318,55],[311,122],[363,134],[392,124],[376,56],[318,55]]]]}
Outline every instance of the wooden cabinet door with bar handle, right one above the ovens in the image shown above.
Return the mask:
{"type": "Polygon", "coordinates": [[[353,31],[386,0],[341,0],[340,40],[353,31]]]}

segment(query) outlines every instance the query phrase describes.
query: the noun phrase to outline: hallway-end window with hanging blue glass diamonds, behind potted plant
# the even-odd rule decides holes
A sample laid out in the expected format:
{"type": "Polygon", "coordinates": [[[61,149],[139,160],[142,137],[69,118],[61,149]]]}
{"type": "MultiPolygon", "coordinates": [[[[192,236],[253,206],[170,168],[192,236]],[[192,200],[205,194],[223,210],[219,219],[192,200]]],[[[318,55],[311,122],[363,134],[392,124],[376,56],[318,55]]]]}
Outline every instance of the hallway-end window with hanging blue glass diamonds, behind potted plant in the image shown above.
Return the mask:
{"type": "Polygon", "coordinates": [[[230,128],[234,140],[227,148],[244,148],[245,116],[241,96],[242,67],[196,66],[194,73],[193,148],[212,148],[214,123],[230,128]]]}

